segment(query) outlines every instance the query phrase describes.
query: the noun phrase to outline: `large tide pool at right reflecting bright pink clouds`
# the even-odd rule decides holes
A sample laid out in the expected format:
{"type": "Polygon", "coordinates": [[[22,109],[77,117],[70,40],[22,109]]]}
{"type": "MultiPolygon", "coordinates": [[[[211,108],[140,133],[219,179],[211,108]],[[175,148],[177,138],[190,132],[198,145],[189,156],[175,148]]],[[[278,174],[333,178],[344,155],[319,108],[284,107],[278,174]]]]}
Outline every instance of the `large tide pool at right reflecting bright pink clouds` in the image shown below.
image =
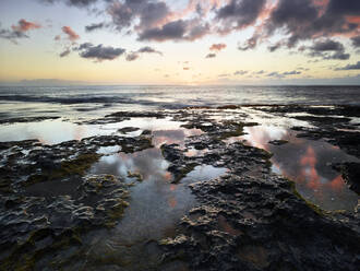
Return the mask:
{"type": "Polygon", "coordinates": [[[358,196],[348,189],[332,164],[357,162],[356,157],[324,141],[296,138],[296,132],[281,127],[247,127],[244,131],[248,134],[232,138],[228,143],[245,140],[247,144],[272,152],[273,172],[295,180],[298,191],[305,199],[325,210],[353,211],[358,196]],[[289,143],[269,144],[273,140],[286,140],[289,143]]]}

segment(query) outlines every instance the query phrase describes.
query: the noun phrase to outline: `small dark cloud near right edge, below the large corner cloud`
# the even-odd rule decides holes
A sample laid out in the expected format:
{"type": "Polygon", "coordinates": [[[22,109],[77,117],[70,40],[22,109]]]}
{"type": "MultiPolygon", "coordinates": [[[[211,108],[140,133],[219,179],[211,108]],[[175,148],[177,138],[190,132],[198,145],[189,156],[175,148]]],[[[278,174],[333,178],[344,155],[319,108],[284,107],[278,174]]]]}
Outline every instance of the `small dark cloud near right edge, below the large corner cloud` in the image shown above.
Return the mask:
{"type": "Polygon", "coordinates": [[[345,52],[345,47],[338,42],[332,39],[315,42],[310,48],[311,57],[321,57],[323,59],[347,60],[350,58],[349,54],[345,52]]]}

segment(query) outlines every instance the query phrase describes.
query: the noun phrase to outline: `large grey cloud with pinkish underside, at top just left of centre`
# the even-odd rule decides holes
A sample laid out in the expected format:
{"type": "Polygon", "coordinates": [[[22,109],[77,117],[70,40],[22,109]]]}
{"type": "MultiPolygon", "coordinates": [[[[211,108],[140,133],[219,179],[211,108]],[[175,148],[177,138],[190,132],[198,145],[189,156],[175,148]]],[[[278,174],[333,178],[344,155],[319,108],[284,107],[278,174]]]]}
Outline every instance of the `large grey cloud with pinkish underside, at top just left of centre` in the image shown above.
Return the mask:
{"type": "Polygon", "coordinates": [[[113,1],[108,13],[116,30],[134,31],[139,40],[195,40],[211,28],[196,12],[196,16],[183,20],[184,14],[176,14],[159,0],[113,1]]]}

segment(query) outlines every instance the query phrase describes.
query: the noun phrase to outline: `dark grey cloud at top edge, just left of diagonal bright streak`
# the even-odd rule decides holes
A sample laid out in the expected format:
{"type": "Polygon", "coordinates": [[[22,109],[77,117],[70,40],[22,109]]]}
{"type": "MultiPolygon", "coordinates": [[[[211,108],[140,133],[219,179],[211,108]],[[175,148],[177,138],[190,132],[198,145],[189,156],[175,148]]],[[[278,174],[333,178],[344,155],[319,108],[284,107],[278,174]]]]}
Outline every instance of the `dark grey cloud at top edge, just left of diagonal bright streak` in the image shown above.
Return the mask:
{"type": "Polygon", "coordinates": [[[265,8],[265,3],[266,0],[231,0],[216,12],[216,19],[223,23],[220,32],[253,24],[265,8]]]}

